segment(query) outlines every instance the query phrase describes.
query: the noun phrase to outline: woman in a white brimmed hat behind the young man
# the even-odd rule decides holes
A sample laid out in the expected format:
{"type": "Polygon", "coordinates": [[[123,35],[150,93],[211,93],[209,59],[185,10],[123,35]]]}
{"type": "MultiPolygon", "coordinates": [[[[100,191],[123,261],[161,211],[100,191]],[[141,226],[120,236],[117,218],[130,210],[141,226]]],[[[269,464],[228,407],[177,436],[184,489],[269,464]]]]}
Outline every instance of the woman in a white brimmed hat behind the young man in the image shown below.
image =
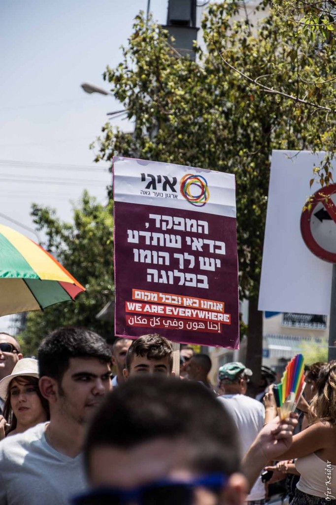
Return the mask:
{"type": "Polygon", "coordinates": [[[9,423],[6,436],[22,433],[49,419],[48,401],[38,387],[37,360],[19,360],[12,374],[0,381],[0,396],[5,398],[4,418],[9,423]]]}

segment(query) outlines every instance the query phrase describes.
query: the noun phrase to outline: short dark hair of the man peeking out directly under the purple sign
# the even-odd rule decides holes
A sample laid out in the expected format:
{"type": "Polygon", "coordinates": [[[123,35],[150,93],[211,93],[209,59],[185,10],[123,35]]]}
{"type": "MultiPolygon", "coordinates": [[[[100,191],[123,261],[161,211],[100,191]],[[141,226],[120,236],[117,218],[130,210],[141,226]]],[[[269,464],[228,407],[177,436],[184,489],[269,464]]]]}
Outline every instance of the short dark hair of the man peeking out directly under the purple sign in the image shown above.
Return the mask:
{"type": "Polygon", "coordinates": [[[173,345],[161,335],[152,333],[133,340],[126,356],[126,368],[130,371],[134,356],[146,356],[149,360],[163,360],[169,356],[170,372],[173,370],[173,345]]]}

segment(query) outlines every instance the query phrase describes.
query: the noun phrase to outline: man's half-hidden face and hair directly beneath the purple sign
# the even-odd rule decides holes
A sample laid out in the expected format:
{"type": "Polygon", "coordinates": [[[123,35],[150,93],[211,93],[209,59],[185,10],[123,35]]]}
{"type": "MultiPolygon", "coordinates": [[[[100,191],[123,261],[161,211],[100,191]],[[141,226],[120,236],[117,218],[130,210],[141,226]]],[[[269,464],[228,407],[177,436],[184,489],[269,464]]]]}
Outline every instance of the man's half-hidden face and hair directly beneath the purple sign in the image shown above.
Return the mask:
{"type": "Polygon", "coordinates": [[[133,340],[126,356],[124,377],[138,374],[174,375],[173,346],[157,334],[143,335],[133,340]]]}

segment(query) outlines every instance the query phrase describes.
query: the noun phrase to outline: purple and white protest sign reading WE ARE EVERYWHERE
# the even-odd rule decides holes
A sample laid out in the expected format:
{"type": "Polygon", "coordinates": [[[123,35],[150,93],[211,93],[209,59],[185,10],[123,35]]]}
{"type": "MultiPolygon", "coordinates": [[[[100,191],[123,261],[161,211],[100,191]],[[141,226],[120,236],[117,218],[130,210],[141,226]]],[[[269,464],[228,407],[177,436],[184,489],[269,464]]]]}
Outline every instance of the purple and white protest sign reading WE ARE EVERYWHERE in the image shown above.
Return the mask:
{"type": "Polygon", "coordinates": [[[239,348],[235,178],[114,158],[115,333],[239,348]]]}

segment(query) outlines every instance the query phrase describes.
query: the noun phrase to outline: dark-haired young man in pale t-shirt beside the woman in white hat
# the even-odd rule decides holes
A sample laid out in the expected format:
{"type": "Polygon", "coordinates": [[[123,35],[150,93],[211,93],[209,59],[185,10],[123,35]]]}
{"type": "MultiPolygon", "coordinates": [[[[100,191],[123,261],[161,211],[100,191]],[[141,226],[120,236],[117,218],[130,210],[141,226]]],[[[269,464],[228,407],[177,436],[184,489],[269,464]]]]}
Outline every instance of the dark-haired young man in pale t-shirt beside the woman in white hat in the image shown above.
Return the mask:
{"type": "Polygon", "coordinates": [[[50,422],[0,442],[0,505],[66,505],[84,488],[84,425],[110,390],[108,345],[84,328],[61,328],[38,350],[50,422]]]}

